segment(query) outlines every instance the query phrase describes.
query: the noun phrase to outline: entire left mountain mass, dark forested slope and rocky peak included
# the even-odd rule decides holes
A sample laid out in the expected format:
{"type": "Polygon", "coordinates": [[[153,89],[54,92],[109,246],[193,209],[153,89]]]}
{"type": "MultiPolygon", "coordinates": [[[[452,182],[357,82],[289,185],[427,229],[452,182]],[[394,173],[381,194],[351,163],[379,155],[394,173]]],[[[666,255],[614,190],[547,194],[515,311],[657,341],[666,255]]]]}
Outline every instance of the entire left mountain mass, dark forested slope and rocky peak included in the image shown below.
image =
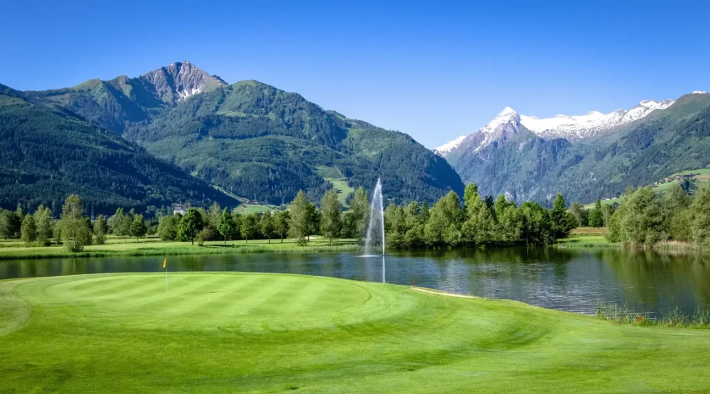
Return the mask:
{"type": "Polygon", "coordinates": [[[175,202],[320,199],[332,182],[432,202],[461,178],[413,138],[190,62],[21,92],[0,85],[0,207],[82,195],[96,213],[175,202]]]}

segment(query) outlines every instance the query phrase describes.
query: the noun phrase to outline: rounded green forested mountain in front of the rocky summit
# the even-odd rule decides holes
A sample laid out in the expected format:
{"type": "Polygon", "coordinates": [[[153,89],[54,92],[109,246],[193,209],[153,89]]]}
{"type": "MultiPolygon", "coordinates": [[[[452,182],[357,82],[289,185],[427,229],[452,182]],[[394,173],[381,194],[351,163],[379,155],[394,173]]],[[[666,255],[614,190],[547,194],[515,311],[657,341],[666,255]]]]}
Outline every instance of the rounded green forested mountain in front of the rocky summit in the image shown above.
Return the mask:
{"type": "Polygon", "coordinates": [[[337,170],[351,187],[381,177],[383,192],[397,201],[463,190],[445,160],[406,134],[256,81],[197,94],[124,136],[207,182],[270,204],[300,189],[320,199],[331,187],[322,168],[337,170]]]}

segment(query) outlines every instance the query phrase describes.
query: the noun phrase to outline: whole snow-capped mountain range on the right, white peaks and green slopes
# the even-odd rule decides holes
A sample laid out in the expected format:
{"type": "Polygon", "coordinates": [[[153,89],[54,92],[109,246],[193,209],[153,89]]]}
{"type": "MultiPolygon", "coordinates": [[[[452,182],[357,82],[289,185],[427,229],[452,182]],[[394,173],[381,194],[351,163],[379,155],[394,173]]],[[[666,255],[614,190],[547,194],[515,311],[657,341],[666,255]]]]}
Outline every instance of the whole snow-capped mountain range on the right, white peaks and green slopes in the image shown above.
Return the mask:
{"type": "Polygon", "coordinates": [[[561,192],[568,201],[594,202],[710,165],[710,95],[550,119],[506,107],[478,131],[433,151],[484,195],[550,205],[561,192]]]}

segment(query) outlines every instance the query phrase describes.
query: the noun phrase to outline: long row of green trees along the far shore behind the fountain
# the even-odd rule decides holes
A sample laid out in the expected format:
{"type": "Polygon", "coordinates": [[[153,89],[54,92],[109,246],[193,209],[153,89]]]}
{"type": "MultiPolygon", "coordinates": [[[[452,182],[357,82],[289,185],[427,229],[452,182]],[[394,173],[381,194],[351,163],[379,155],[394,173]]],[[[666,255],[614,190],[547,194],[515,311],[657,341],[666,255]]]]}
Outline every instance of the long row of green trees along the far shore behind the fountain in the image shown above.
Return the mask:
{"type": "MultiPolygon", "coordinates": [[[[64,243],[69,250],[81,251],[92,243],[102,244],[107,234],[141,239],[157,234],[163,241],[190,241],[202,246],[204,241],[254,239],[295,239],[299,244],[320,235],[331,243],[335,239],[364,239],[369,221],[370,202],[367,192],[359,187],[349,198],[344,211],[336,190],[327,191],[318,205],[310,202],[303,191],[287,210],[236,214],[229,208],[212,204],[209,209],[190,208],[182,214],[157,212],[155,220],[146,220],[133,210],[123,208],[108,219],[99,215],[95,221],[83,215],[82,200],[77,195],[67,198],[59,221],[51,212],[38,207],[34,214],[0,211],[0,236],[20,236],[30,245],[64,243]],[[20,219],[22,218],[22,219],[20,219]]],[[[426,201],[388,205],[384,212],[386,242],[389,248],[421,248],[439,246],[545,245],[569,235],[578,221],[557,195],[554,207],[545,209],[535,202],[518,207],[503,195],[493,201],[482,198],[474,184],[466,186],[463,204],[455,192],[449,192],[429,207],[426,201]]]]}

